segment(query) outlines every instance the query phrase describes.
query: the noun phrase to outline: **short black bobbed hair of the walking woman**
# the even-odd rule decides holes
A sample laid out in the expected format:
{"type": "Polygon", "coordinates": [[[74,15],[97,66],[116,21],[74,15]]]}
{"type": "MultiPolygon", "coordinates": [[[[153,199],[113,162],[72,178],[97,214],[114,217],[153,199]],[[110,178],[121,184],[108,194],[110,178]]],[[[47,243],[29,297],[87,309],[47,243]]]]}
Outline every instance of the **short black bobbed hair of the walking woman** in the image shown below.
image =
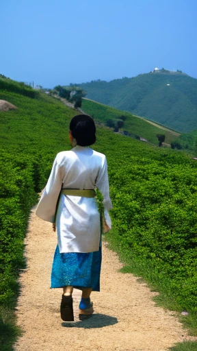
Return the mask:
{"type": "Polygon", "coordinates": [[[96,127],[88,114],[77,114],[70,121],[70,132],[79,146],[90,146],[96,141],[96,127]]]}

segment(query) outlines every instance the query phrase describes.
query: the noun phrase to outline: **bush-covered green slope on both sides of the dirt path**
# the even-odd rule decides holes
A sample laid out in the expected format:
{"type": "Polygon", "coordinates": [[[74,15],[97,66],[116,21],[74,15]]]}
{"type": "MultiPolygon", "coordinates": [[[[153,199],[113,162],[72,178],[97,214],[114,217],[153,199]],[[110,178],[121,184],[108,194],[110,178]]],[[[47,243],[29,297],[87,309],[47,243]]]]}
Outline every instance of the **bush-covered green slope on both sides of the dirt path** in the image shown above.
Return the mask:
{"type": "MultiPolygon", "coordinates": [[[[55,154],[70,149],[69,123],[78,113],[44,93],[34,95],[32,90],[28,95],[29,87],[13,91],[13,84],[10,90],[8,85],[0,90],[0,99],[17,108],[0,111],[2,351],[12,350],[18,333],[14,307],[18,270],[25,267],[23,240],[29,211],[47,182],[55,154]]],[[[100,105],[94,106],[99,111],[100,105]]],[[[88,104],[84,108],[88,109],[88,104]]],[[[114,133],[103,127],[103,122],[97,125],[96,136],[94,149],[107,156],[114,206],[114,230],[107,240],[116,241],[130,267],[127,269],[151,282],[168,308],[189,312],[184,320],[195,335],[197,163],[176,150],[114,133]]]]}

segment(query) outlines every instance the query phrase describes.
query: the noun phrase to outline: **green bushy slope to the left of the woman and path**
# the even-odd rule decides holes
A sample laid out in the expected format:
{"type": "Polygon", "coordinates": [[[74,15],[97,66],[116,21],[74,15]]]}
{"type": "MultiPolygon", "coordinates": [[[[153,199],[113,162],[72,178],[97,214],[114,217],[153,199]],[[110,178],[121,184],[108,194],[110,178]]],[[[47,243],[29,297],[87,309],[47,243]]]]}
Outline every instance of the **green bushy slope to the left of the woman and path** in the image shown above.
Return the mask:
{"type": "Polygon", "coordinates": [[[35,99],[1,90],[16,110],[0,111],[0,344],[12,350],[18,269],[25,267],[24,238],[29,211],[46,184],[55,154],[64,149],[75,112],[47,95],[35,99]],[[12,333],[12,335],[10,335],[12,333]],[[9,335],[9,338],[8,338],[9,335]]]}

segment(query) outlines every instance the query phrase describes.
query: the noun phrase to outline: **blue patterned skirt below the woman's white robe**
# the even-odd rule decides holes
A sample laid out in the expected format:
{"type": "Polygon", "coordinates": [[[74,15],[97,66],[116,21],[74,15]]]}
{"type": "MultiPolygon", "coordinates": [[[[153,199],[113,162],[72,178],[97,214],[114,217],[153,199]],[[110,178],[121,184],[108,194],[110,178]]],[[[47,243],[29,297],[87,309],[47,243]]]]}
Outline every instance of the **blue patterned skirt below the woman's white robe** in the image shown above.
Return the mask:
{"type": "Polygon", "coordinates": [[[67,285],[100,291],[101,249],[96,252],[69,252],[60,254],[57,245],[51,271],[51,288],[67,285]]]}

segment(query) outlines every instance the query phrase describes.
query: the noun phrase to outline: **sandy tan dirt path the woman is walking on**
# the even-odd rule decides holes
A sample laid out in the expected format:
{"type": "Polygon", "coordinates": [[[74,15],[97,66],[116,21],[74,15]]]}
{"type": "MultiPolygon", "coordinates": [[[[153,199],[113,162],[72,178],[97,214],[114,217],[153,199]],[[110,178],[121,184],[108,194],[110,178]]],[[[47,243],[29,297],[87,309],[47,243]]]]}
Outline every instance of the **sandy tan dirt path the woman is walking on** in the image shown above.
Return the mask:
{"type": "Polygon", "coordinates": [[[56,234],[51,224],[31,213],[25,240],[27,269],[21,274],[18,325],[23,336],[16,351],[118,350],[166,351],[183,341],[172,312],[155,307],[153,292],[131,274],[118,270],[118,256],[103,244],[101,293],[92,293],[95,313],[79,321],[79,291],[74,293],[75,323],[60,319],[62,289],[49,289],[56,234]]]}

